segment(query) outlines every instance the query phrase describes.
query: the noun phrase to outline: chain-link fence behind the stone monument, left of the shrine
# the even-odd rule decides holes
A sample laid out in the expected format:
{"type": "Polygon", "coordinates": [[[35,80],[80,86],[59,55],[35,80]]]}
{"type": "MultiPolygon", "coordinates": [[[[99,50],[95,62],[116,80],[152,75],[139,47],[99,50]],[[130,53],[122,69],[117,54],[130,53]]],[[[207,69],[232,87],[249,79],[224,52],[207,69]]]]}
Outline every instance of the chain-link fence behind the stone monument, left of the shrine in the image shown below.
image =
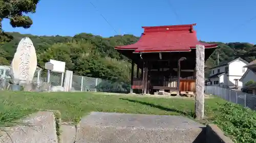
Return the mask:
{"type": "MultiPolygon", "coordinates": [[[[2,78],[11,78],[10,67],[0,68],[0,76],[2,78]]],[[[50,73],[49,82],[52,86],[62,85],[65,79],[61,79],[61,73],[50,73]]],[[[47,70],[36,69],[32,82],[37,83],[37,85],[47,82],[47,70]]],[[[121,81],[111,81],[101,78],[86,77],[73,75],[72,91],[97,91],[97,92],[115,92],[115,93],[129,93],[131,85],[121,81]]]]}

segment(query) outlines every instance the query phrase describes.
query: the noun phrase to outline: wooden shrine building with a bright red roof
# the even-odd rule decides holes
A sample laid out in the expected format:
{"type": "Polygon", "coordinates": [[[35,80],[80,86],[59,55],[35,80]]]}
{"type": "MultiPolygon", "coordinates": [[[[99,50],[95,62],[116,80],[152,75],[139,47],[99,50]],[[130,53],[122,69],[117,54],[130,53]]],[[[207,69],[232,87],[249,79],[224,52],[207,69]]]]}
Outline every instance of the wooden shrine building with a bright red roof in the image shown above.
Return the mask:
{"type": "Polygon", "coordinates": [[[198,41],[195,25],[143,26],[136,43],[115,47],[132,60],[131,92],[195,92],[196,45],[205,46],[205,61],[218,46],[198,41]]]}

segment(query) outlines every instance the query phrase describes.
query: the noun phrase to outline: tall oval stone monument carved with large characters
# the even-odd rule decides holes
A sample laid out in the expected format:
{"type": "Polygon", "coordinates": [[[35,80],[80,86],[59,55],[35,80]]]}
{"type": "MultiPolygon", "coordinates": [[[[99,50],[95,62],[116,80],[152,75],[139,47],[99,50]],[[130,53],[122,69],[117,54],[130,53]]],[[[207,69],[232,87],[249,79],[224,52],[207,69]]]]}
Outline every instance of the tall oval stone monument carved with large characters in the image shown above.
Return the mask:
{"type": "Polygon", "coordinates": [[[14,84],[32,82],[37,67],[35,47],[30,38],[20,40],[11,63],[11,76],[14,84]]]}

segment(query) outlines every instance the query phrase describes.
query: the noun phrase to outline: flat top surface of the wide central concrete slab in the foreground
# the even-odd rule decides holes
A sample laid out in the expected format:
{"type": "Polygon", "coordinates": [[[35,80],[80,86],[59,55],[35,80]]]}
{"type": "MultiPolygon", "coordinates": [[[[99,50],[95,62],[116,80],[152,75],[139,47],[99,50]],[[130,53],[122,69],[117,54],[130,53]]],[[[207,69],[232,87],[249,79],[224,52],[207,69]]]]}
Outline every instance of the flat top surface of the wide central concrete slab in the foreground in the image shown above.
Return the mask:
{"type": "Polygon", "coordinates": [[[205,127],[183,116],[141,115],[129,113],[91,112],[80,124],[91,126],[137,127],[144,129],[188,129],[205,127]]]}

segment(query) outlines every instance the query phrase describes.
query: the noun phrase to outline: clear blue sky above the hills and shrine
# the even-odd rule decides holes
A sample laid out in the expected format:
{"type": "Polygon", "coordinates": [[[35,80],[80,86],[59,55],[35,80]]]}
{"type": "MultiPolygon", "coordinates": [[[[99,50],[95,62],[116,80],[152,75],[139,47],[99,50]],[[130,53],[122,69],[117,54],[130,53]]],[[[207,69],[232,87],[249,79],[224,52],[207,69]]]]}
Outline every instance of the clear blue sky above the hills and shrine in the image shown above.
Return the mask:
{"type": "Polygon", "coordinates": [[[199,40],[256,44],[255,5],[255,0],[41,0],[36,13],[29,14],[34,22],[31,28],[12,28],[6,19],[3,28],[33,35],[74,36],[84,32],[109,37],[140,36],[141,26],[197,23],[199,40]]]}

